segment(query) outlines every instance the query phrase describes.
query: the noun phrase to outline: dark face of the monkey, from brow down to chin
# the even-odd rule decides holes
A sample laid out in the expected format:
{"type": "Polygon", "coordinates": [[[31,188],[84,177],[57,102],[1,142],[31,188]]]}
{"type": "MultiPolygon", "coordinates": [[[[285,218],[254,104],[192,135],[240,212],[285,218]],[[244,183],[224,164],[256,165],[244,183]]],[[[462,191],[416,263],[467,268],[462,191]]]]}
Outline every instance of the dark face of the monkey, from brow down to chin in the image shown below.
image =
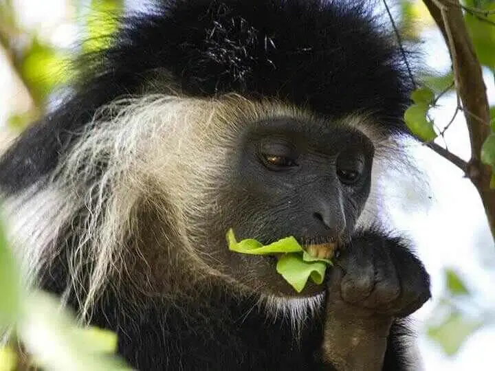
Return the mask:
{"type": "MultiPolygon", "coordinates": [[[[348,240],[369,196],[373,144],[356,128],[328,120],[272,117],[245,126],[228,156],[221,206],[206,217],[213,232],[208,265],[248,289],[296,295],[276,273],[274,256],[228,251],[225,232],[232,227],[239,240],[263,244],[294,236],[307,249],[348,240]]],[[[309,284],[300,295],[323,286],[309,284]]]]}

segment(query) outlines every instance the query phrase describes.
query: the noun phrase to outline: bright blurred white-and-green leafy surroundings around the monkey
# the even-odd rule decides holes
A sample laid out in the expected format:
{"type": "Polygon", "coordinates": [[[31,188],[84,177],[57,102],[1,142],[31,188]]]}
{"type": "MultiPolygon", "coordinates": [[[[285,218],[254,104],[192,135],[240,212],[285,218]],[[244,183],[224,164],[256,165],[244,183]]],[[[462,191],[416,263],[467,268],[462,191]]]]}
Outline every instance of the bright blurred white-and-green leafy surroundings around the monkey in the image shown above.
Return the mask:
{"type": "MultiPolygon", "coordinates": [[[[383,2],[378,3],[378,10],[384,10],[383,2]]],[[[441,95],[436,107],[430,110],[435,131],[442,134],[436,142],[469,159],[470,146],[462,115],[456,115],[443,132],[454,115],[456,99],[451,89],[450,58],[440,32],[421,1],[387,3],[397,27],[405,35],[404,43],[421,43],[424,65],[420,66],[418,82],[441,95]]],[[[67,60],[102,47],[105,39],[101,36],[115,28],[113,17],[126,8],[142,8],[143,4],[131,0],[0,0],[0,148],[43,111],[60,102],[65,93],[63,85],[70,77],[67,60]],[[91,41],[76,43],[86,38],[91,41]]],[[[495,10],[494,1],[465,0],[463,4],[495,10]]],[[[476,14],[465,14],[476,54],[484,66],[489,102],[494,106],[495,15],[488,14],[487,19],[481,21],[476,14]]],[[[415,240],[417,253],[432,274],[433,300],[415,315],[425,369],[492,370],[489,363],[493,361],[495,344],[495,249],[483,207],[459,169],[419,144],[411,143],[409,150],[424,169],[429,186],[403,177],[404,181],[397,181],[386,196],[392,205],[391,223],[415,240]]],[[[43,293],[20,293],[13,285],[17,273],[9,259],[12,256],[5,240],[0,239],[0,323],[19,318],[43,322],[39,314],[43,308],[50,313],[52,298],[43,293]],[[19,295],[21,300],[14,300],[19,295]],[[37,317],[29,313],[19,315],[21,308],[28,308],[26,304],[16,304],[23,301],[41,303],[37,317]]],[[[64,339],[73,339],[66,341],[68,346],[102,338],[100,348],[88,348],[85,354],[113,351],[115,339],[111,334],[91,330],[89,335],[80,335],[69,330],[67,335],[63,329],[72,328],[72,319],[66,314],[60,317],[59,321],[45,325],[48,330],[56,329],[59,335],[65,334],[64,339]]],[[[31,335],[36,346],[41,335],[31,335]]],[[[0,350],[1,371],[2,364],[7,365],[11,356],[5,349],[0,350]]],[[[79,361],[78,369],[88,369],[83,367],[84,359],[79,361]]],[[[90,369],[96,370],[94,366],[90,369]]],[[[9,369],[5,366],[5,370],[9,369]]]]}

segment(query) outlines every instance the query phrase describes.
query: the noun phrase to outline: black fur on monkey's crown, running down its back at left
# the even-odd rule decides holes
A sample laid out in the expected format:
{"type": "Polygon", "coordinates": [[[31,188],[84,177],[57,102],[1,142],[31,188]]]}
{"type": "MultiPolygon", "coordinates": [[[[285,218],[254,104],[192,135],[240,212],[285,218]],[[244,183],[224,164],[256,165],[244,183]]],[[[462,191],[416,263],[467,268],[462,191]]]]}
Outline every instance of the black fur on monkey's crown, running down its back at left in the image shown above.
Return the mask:
{"type": "Polygon", "coordinates": [[[409,77],[393,38],[363,1],[164,1],[122,22],[112,46],[79,61],[72,97],[23,133],[0,163],[10,194],[43,178],[91,121],[153,80],[189,95],[236,91],[278,97],[338,117],[371,112],[386,131],[406,131],[409,77]]]}

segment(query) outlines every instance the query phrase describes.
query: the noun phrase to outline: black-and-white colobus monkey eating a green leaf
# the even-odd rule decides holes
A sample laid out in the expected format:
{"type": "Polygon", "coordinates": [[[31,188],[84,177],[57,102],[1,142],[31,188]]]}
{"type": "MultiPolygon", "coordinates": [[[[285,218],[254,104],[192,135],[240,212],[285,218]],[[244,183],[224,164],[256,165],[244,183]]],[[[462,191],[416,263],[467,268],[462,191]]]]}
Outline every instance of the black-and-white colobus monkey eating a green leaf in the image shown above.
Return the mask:
{"type": "Polygon", "coordinates": [[[35,284],[146,370],[407,370],[430,297],[380,229],[410,82],[362,1],[156,1],[0,162],[35,284]],[[225,232],[340,254],[296,293],[225,232]]]}

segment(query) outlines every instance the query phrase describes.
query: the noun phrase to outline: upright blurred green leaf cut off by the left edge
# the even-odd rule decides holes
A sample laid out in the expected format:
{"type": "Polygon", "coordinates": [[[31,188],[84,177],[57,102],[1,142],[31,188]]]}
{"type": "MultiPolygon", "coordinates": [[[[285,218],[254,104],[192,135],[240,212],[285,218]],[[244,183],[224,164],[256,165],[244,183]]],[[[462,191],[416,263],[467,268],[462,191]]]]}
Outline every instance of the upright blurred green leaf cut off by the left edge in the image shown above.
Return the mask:
{"type": "MultiPolygon", "coordinates": [[[[14,324],[20,315],[20,274],[0,223],[0,328],[14,324]]],[[[1,331],[0,331],[1,332],[1,331]]]]}

